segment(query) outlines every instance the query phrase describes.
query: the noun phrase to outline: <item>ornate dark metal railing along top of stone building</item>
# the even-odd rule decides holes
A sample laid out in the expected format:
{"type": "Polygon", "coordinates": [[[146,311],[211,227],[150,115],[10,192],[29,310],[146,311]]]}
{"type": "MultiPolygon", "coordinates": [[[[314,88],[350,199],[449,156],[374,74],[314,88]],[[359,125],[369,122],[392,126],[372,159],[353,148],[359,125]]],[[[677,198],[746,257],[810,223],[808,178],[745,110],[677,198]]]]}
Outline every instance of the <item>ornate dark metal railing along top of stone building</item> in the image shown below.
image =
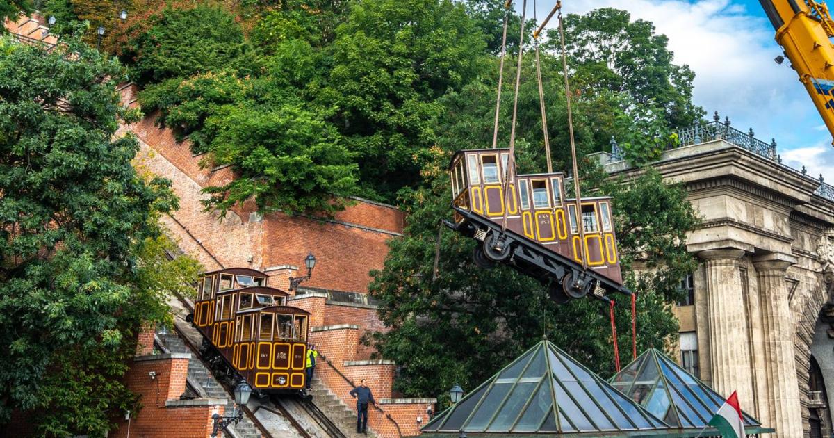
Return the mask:
{"type": "MultiPolygon", "coordinates": [[[[696,123],[688,128],[678,129],[676,131],[679,143],[670,145],[669,149],[680,148],[682,146],[689,146],[691,144],[706,143],[713,140],[724,140],[727,143],[732,143],[741,149],[746,149],[754,154],[760,155],[766,159],[780,164],[784,169],[795,174],[801,174],[806,178],[813,178],[808,174],[805,166],[802,170],[796,170],[786,164],[782,164],[781,155],[776,154],[776,140],[771,138],[771,143],[766,143],[754,137],[753,128],[750,128],[746,133],[736,128],[731,127],[730,118],[725,117],[724,121],[718,116],[718,112],[712,116],[711,122],[696,123]]],[[[611,138],[612,158],[617,156],[621,159],[621,151],[616,142],[611,138]]],[[[834,186],[827,184],[822,175],[819,177],[820,186],[814,191],[814,194],[822,198],[834,201],[834,186]]]]}

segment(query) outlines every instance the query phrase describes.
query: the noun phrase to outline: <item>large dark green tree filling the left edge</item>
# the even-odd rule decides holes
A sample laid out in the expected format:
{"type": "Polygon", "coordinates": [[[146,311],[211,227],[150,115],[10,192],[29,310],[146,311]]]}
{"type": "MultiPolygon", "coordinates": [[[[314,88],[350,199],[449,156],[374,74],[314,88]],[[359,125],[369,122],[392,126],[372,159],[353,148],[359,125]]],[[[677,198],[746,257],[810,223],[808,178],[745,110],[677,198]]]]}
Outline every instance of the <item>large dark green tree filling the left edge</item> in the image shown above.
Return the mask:
{"type": "Polygon", "coordinates": [[[157,221],[177,200],[114,137],[137,116],[120,78],[78,38],[0,39],[0,417],[31,413],[38,435],[105,435],[135,406],[118,379],[138,327],[166,315],[157,221]]]}

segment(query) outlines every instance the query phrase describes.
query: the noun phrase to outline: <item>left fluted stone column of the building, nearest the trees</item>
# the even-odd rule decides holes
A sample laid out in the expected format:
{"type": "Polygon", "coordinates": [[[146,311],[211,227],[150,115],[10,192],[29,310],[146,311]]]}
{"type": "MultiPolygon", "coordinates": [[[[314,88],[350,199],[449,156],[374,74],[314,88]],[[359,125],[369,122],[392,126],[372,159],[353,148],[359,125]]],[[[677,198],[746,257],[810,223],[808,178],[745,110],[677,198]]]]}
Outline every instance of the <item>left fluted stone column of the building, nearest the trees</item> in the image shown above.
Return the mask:
{"type": "Polygon", "coordinates": [[[706,264],[706,312],[710,326],[712,387],[721,395],[738,393],[741,409],[753,407],[751,360],[746,309],[741,295],[742,249],[707,249],[698,253],[706,264]]]}

